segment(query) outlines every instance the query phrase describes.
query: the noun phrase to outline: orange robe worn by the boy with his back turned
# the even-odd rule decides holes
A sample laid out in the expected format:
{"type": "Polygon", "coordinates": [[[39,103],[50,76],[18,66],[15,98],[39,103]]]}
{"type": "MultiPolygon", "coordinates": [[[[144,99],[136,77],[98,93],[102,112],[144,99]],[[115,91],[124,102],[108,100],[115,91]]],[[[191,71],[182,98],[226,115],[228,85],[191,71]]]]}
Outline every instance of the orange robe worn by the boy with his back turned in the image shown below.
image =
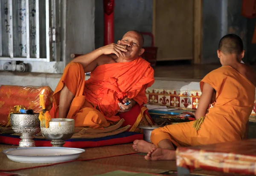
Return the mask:
{"type": "Polygon", "coordinates": [[[230,66],[207,74],[200,82],[201,91],[204,82],[215,89],[216,102],[206,114],[201,129],[196,131],[192,127],[194,121],[155,129],[151,133],[151,141],[155,145],[163,139],[171,140],[176,147],[243,139],[246,123],[253,110],[255,86],[230,66]]]}

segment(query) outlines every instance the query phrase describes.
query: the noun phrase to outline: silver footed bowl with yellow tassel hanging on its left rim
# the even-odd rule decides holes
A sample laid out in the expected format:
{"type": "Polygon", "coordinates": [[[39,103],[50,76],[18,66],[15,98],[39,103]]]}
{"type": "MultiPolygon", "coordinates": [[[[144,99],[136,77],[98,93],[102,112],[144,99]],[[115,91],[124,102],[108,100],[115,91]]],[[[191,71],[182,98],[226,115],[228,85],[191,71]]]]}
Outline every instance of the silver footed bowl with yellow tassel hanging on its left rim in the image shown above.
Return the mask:
{"type": "Polygon", "coordinates": [[[48,128],[41,127],[41,132],[45,139],[51,140],[52,147],[63,147],[64,140],[73,136],[74,128],[74,119],[52,119],[48,128]]]}

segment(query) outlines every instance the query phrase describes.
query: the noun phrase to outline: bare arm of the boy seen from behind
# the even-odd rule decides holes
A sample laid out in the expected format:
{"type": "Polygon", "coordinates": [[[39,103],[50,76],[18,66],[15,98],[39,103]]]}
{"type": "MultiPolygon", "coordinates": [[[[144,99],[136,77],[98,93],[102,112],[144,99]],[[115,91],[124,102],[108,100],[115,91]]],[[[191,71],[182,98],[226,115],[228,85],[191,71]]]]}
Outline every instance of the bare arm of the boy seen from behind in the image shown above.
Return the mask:
{"type": "Polygon", "coordinates": [[[207,109],[209,108],[209,105],[212,102],[213,93],[214,89],[212,88],[212,86],[207,83],[204,83],[199,105],[195,112],[195,119],[200,119],[202,116],[205,116],[207,109]]]}

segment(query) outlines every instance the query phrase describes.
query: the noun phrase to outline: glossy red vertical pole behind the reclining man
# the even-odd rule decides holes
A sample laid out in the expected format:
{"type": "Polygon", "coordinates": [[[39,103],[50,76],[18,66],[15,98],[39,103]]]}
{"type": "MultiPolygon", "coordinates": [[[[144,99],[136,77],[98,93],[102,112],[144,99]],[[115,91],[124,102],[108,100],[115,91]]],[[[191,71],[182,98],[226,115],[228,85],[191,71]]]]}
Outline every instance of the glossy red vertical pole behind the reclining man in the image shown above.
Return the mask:
{"type": "Polygon", "coordinates": [[[104,5],[104,45],[114,43],[115,0],[103,0],[104,5]]]}

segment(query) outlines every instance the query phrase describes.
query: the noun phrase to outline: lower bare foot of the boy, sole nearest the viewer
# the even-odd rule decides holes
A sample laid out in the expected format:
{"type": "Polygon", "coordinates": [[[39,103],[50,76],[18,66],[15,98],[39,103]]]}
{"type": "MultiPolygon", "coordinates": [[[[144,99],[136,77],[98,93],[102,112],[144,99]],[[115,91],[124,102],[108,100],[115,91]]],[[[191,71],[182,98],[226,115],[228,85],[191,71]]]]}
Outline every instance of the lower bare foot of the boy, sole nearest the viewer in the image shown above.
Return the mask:
{"type": "Polygon", "coordinates": [[[148,161],[156,160],[175,160],[176,154],[175,150],[162,149],[162,148],[153,148],[145,156],[145,159],[148,161]]]}

